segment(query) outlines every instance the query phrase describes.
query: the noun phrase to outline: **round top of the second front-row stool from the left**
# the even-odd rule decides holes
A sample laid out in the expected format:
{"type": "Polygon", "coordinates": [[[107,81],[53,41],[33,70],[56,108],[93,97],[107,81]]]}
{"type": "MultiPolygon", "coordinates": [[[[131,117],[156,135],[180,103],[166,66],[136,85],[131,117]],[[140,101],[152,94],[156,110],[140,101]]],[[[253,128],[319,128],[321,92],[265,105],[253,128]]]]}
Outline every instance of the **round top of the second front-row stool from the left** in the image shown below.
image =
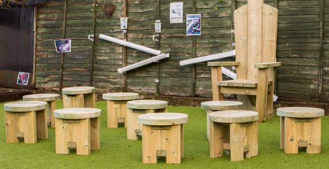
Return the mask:
{"type": "Polygon", "coordinates": [[[100,116],[98,108],[61,108],[53,111],[53,116],[60,119],[89,119],[100,116]]]}

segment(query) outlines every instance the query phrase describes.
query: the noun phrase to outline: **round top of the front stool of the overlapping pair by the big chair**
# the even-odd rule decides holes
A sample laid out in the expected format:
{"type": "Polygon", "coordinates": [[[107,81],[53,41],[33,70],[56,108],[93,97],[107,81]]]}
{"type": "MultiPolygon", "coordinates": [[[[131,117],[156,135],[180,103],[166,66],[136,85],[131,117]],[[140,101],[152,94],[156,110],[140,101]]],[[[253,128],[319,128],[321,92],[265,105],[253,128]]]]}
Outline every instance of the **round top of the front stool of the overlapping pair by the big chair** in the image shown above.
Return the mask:
{"type": "Polygon", "coordinates": [[[258,112],[249,110],[224,110],[210,112],[209,120],[218,123],[245,123],[258,120],[258,112]]]}

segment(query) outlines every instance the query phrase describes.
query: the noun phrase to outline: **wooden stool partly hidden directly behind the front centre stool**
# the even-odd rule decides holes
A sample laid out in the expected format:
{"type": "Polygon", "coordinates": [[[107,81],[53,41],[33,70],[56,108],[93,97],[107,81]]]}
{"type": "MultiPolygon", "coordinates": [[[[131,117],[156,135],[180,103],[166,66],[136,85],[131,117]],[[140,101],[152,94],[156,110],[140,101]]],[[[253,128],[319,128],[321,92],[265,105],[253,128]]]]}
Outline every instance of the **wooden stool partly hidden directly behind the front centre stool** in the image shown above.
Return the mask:
{"type": "Polygon", "coordinates": [[[133,100],[127,102],[127,139],[138,140],[142,135],[142,125],[138,124],[137,117],[154,112],[167,112],[167,101],[161,100],[133,100]]]}

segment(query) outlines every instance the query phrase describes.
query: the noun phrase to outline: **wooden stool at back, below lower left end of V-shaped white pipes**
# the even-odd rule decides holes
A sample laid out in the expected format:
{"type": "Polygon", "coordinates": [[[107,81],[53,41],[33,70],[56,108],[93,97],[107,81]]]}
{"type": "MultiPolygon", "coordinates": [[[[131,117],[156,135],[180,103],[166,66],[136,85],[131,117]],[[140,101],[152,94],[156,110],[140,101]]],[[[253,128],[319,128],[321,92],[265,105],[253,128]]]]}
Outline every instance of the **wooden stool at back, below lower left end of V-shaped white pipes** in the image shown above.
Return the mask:
{"type": "Polygon", "coordinates": [[[139,97],[138,93],[105,93],[107,100],[107,127],[118,128],[118,123],[124,122],[127,127],[127,102],[139,97]]]}

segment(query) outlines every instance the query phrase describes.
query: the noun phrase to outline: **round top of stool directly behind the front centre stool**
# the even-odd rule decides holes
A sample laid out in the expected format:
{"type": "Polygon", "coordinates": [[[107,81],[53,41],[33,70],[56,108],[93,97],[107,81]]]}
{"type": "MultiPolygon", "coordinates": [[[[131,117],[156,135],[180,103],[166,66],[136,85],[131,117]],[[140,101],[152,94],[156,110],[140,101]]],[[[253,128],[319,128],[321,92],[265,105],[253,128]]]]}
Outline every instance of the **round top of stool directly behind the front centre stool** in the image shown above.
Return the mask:
{"type": "Polygon", "coordinates": [[[159,109],[167,106],[168,102],[162,100],[132,100],[127,102],[127,108],[135,109],[159,109]]]}

